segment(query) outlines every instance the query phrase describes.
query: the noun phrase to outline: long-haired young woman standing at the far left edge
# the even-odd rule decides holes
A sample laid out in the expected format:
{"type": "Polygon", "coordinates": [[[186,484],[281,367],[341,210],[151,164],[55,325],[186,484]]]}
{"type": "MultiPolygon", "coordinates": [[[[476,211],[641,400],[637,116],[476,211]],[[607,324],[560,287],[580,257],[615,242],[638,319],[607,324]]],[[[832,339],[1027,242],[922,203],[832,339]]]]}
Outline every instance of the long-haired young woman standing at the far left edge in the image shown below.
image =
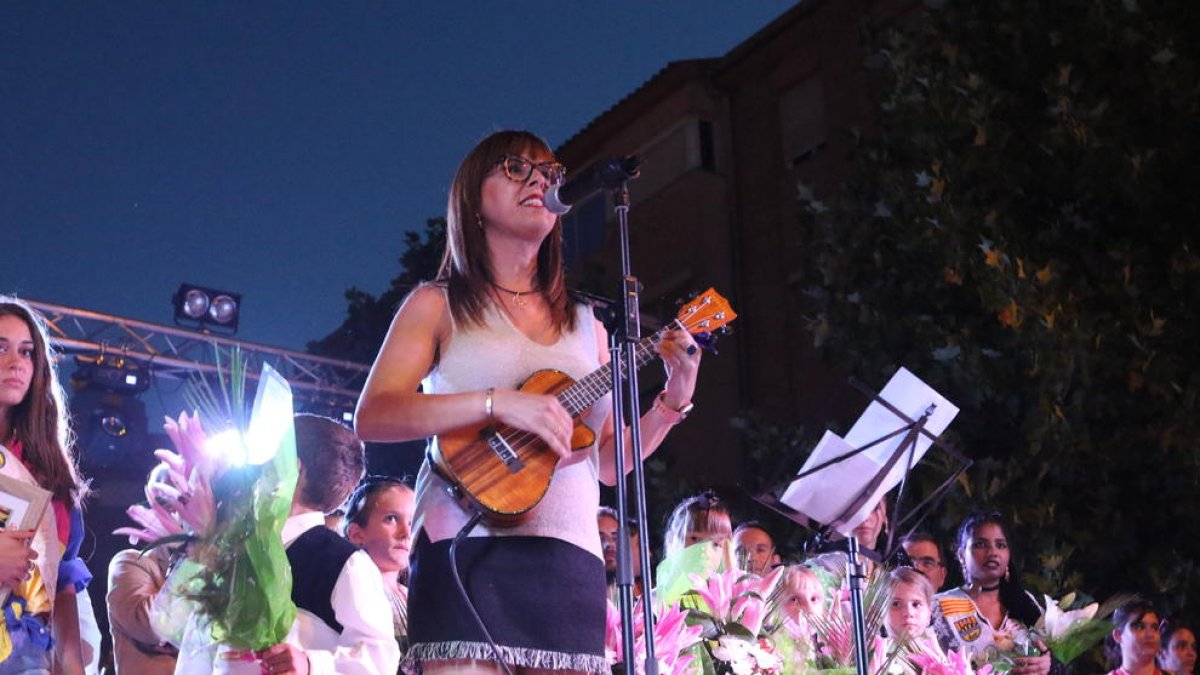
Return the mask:
{"type": "Polygon", "coordinates": [[[29,305],[6,295],[0,295],[0,473],[52,495],[36,528],[0,533],[0,587],[11,591],[5,616],[20,616],[2,629],[10,639],[25,633],[22,640],[0,640],[8,644],[7,653],[0,650],[0,674],[83,673],[76,595],[91,579],[78,557],[88,485],[72,455],[46,328],[29,305]]]}

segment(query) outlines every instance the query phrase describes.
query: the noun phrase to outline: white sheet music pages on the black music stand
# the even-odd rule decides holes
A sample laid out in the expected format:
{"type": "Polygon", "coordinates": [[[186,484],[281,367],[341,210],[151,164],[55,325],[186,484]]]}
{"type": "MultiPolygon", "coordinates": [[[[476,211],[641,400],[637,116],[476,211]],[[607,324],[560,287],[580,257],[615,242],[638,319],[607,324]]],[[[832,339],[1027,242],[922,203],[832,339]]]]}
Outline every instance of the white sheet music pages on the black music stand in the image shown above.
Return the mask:
{"type": "MultiPolygon", "coordinates": [[[[920,418],[930,406],[934,406],[932,413],[925,420],[925,430],[934,436],[941,435],[949,426],[954,417],[959,414],[958,406],[904,368],[892,376],[887,387],[880,392],[880,398],[895,406],[911,419],[920,418]]],[[[858,422],[854,423],[854,426],[851,428],[845,438],[832,431],[826,431],[799,473],[833,458],[853,452],[856,448],[866,446],[905,425],[907,425],[906,420],[896,417],[877,401],[871,401],[871,405],[866,407],[866,411],[858,418],[858,422]]],[[[838,464],[827,466],[812,476],[793,480],[787,486],[780,501],[817,522],[834,522],[842,512],[850,508],[854,497],[866,489],[875,476],[883,470],[888,458],[900,447],[904,438],[905,434],[896,434],[892,438],[838,464]]],[[[932,441],[929,436],[920,435],[917,437],[916,453],[912,459],[913,466],[925,456],[925,452],[931,444],[932,441]]],[[[901,458],[872,492],[871,498],[866,500],[844,525],[838,527],[838,531],[848,537],[854,527],[866,519],[871,509],[875,508],[875,504],[883,498],[883,495],[900,483],[907,467],[908,458],[901,458]]]]}

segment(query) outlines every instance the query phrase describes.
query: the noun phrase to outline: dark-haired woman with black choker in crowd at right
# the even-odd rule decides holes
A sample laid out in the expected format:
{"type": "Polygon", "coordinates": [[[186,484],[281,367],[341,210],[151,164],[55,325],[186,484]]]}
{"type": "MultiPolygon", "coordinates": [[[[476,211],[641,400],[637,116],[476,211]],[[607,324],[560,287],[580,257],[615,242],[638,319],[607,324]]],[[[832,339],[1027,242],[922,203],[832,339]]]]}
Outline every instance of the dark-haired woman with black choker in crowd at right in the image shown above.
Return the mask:
{"type": "Polygon", "coordinates": [[[965,650],[979,661],[1015,650],[1013,675],[1045,675],[1054,664],[1039,645],[1024,644],[1028,627],[1040,616],[1033,598],[1009,571],[1012,552],[998,513],[977,513],[959,527],[958,558],[966,583],[937,596],[935,628],[946,649],[965,650]]]}

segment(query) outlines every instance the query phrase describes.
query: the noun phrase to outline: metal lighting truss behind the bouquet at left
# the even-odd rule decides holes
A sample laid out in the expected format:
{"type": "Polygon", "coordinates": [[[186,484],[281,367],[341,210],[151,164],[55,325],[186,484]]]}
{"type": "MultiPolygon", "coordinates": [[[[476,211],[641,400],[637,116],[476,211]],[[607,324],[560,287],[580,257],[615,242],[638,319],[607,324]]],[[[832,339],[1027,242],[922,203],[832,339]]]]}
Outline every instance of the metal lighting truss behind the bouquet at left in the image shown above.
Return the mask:
{"type": "Polygon", "coordinates": [[[257,378],[263,364],[280,372],[298,399],[353,407],[370,366],[290,352],[181,328],[158,325],[88,310],[29,300],[42,312],[50,342],[61,353],[84,358],[136,362],[155,378],[186,380],[190,375],[228,374],[230,356],[240,348],[257,378]]]}

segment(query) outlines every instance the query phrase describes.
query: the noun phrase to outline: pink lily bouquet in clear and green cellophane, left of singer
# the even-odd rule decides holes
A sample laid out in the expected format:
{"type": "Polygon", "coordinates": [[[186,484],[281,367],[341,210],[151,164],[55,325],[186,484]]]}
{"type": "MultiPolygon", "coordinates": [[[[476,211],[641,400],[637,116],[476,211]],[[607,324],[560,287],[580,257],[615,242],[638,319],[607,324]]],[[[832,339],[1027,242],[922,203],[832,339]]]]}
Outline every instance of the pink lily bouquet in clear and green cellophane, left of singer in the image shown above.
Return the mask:
{"type": "MultiPolygon", "coordinates": [[[[200,413],[168,419],[166,430],[179,454],[160,456],[174,458],[168,462],[175,465],[185,495],[175,502],[178,520],[191,530],[188,573],[178,580],[176,592],[200,613],[214,643],[258,651],[284,641],[296,615],[281,538],[299,476],[292,390],[263,364],[246,417],[240,352],[229,370],[220,393],[193,381],[190,398],[200,413]]],[[[160,507],[151,500],[154,508],[160,507]]]]}

